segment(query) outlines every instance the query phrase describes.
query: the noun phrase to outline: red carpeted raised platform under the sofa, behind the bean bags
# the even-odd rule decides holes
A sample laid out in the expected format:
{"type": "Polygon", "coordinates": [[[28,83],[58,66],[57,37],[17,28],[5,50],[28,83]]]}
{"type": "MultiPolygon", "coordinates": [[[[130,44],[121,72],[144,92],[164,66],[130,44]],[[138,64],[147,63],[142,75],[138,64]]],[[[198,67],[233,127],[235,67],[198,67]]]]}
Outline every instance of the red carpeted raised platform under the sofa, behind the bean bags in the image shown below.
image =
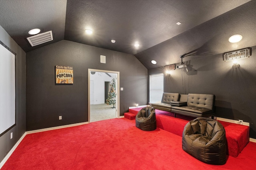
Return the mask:
{"type": "MultiPolygon", "coordinates": [[[[137,114],[140,109],[142,108],[129,109],[129,112],[137,114]]],[[[177,117],[174,117],[174,113],[156,109],[156,126],[182,137],[184,126],[188,121],[194,118],[183,117],[178,114],[177,117]],[[178,116],[182,119],[177,118],[178,116]]],[[[219,122],[223,125],[226,131],[227,154],[237,157],[249,142],[250,127],[224,121],[219,122]]]]}

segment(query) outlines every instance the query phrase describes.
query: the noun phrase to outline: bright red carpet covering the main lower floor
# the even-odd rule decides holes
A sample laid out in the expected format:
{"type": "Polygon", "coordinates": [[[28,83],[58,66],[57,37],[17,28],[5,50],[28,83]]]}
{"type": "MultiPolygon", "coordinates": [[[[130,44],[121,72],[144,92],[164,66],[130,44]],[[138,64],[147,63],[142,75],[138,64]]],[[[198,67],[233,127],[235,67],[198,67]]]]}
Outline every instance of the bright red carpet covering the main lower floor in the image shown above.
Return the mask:
{"type": "Polygon", "coordinates": [[[182,137],[135,120],[109,119],[26,135],[1,170],[255,170],[256,143],[209,165],[182,150],[182,137]]]}

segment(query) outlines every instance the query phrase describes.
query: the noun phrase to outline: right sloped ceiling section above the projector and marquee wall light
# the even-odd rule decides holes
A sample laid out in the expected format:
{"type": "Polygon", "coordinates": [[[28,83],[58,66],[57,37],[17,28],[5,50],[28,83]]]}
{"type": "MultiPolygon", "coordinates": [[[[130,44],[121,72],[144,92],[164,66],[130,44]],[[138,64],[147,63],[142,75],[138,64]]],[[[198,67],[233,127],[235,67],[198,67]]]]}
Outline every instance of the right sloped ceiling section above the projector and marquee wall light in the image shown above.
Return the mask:
{"type": "Polygon", "coordinates": [[[199,57],[214,56],[228,51],[256,45],[256,0],[206,21],[188,31],[168,39],[154,47],[135,54],[146,68],[156,68],[199,57]],[[230,43],[232,35],[243,36],[238,43],[230,43]],[[155,60],[157,64],[152,64],[155,60]]]}

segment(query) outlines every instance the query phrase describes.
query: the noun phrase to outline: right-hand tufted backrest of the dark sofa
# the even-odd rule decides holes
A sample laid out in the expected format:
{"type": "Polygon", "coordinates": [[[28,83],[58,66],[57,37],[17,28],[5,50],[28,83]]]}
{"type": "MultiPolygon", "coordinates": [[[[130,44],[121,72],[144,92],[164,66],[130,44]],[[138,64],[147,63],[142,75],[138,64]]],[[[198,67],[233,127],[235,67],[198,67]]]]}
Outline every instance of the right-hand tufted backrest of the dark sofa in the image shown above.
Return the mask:
{"type": "Polygon", "coordinates": [[[188,94],[188,106],[201,107],[213,110],[215,103],[214,94],[188,94]]]}

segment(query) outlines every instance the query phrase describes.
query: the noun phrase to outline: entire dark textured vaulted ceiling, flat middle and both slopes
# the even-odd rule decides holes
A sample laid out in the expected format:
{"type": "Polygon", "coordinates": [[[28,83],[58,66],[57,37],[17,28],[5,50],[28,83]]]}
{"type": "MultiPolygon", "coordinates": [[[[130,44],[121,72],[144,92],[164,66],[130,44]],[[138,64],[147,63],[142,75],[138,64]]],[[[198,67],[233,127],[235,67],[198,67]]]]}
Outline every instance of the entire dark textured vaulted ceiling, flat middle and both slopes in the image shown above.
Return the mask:
{"type": "Polygon", "coordinates": [[[132,54],[150,69],[256,45],[255,9],[256,0],[0,0],[0,25],[25,52],[65,39],[132,54]],[[53,40],[32,47],[34,28],[53,40]],[[242,41],[229,43],[234,34],[242,41]]]}

